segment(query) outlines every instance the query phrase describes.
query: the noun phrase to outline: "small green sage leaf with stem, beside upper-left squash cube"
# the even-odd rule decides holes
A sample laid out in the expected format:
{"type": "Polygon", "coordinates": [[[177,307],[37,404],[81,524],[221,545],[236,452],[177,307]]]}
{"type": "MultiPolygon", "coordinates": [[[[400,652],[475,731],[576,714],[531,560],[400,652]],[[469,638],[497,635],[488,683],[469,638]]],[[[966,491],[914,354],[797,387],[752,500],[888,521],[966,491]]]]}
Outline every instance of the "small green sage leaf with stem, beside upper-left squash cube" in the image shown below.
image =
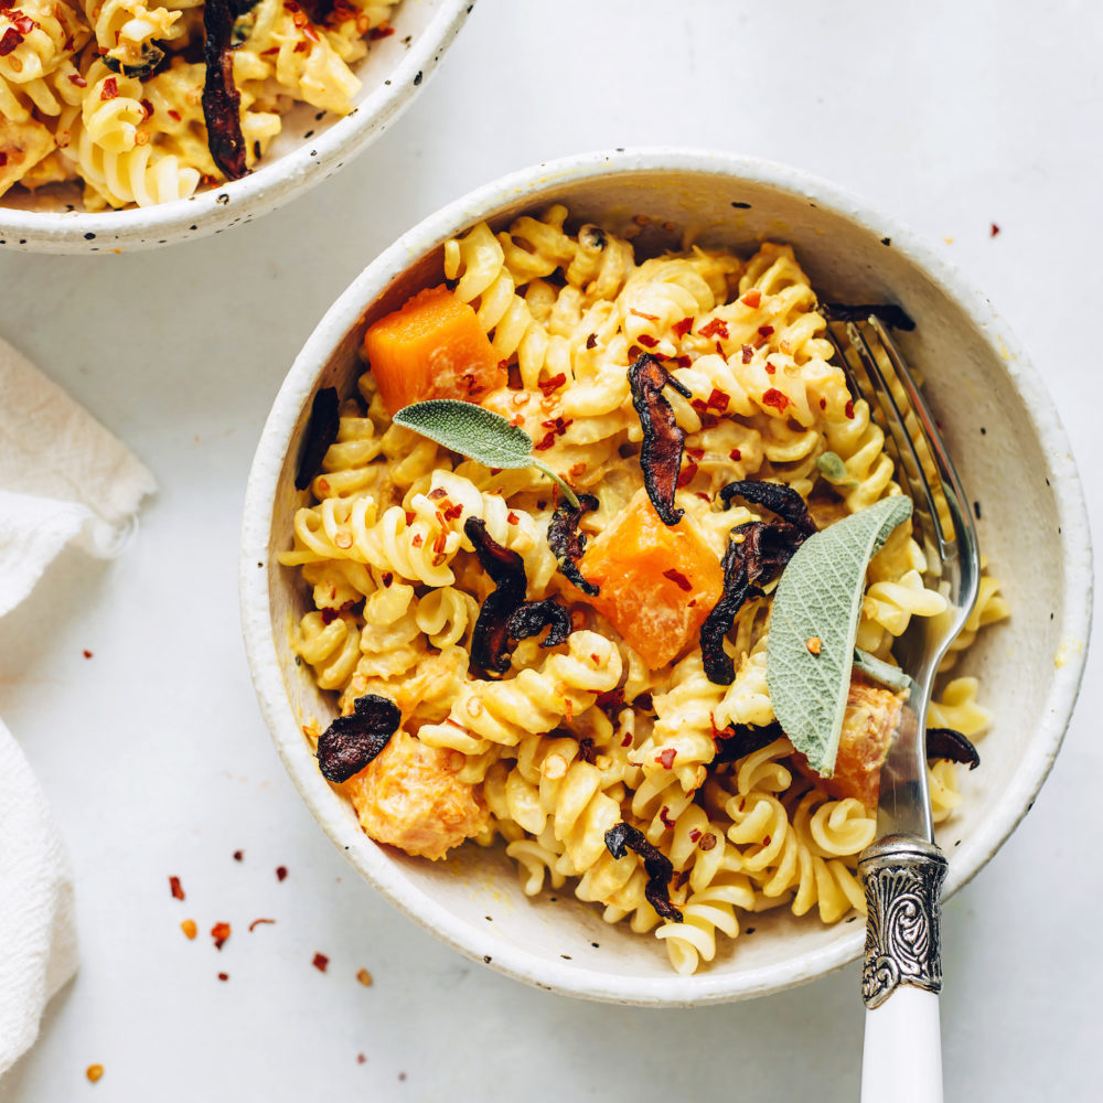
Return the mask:
{"type": "Polygon", "coordinates": [[[533,438],[493,410],[458,398],[430,398],[403,407],[393,420],[488,468],[538,468],[579,507],[570,486],[533,456],[533,438]]]}

